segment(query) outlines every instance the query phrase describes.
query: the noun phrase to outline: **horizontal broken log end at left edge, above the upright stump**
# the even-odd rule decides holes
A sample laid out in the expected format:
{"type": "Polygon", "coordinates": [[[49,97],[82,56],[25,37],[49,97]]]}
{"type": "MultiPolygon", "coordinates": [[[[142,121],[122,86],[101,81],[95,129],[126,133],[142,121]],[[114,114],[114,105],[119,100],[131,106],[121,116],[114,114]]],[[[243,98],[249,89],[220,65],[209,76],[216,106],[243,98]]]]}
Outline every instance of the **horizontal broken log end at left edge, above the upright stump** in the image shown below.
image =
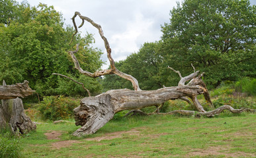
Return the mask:
{"type": "Polygon", "coordinates": [[[0,86],[0,99],[14,99],[16,97],[26,97],[35,92],[28,86],[28,81],[8,86],[0,86]]]}

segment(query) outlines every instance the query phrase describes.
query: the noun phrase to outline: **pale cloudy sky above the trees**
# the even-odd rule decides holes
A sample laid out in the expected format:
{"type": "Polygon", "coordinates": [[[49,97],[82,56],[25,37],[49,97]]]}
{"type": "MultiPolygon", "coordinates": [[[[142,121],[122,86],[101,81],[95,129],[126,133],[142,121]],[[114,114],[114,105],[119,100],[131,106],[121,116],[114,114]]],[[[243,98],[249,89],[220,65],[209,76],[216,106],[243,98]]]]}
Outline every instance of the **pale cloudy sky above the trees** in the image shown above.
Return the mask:
{"type": "MultiPolygon", "coordinates": [[[[17,0],[21,2],[22,0],[17,0]]],[[[127,55],[138,52],[145,42],[157,41],[161,37],[161,25],[169,23],[169,12],[182,0],[27,0],[32,6],[44,3],[53,5],[56,11],[63,14],[65,24],[72,24],[70,18],[75,11],[80,12],[100,24],[105,37],[110,43],[114,61],[126,59],[127,55]]],[[[256,0],[251,0],[256,5],[256,0]]],[[[78,19],[78,18],[77,18],[78,19]]],[[[77,20],[77,25],[80,21],[77,20]]],[[[86,23],[79,29],[82,34],[94,34],[94,47],[105,53],[103,40],[96,28],[86,23]]],[[[108,61],[107,61],[108,65],[108,61]]],[[[107,68],[105,65],[103,68],[107,68]]]]}

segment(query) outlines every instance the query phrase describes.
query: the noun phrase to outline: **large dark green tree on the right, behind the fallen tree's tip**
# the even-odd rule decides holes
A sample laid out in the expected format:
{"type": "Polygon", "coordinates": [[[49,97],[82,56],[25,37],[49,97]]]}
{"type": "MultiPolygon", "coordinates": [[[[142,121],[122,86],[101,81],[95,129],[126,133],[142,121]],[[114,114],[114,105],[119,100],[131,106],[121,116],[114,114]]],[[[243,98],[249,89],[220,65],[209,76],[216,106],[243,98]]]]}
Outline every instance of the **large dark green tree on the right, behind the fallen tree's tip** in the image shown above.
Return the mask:
{"type": "Polygon", "coordinates": [[[189,73],[189,65],[206,72],[208,85],[239,76],[255,77],[256,9],[248,0],[185,0],[162,26],[164,66],[189,73]]]}

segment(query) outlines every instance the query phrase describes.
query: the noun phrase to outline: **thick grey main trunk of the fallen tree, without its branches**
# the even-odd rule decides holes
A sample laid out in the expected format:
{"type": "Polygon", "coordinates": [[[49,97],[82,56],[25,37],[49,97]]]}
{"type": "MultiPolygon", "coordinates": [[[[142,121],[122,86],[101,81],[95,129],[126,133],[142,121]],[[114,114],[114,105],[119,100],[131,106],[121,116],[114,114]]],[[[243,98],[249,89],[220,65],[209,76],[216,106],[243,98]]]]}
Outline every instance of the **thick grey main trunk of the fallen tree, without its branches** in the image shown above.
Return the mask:
{"type": "Polygon", "coordinates": [[[85,97],[81,99],[80,106],[74,109],[75,124],[82,127],[73,135],[95,133],[119,111],[161,105],[170,99],[198,95],[203,92],[204,89],[199,86],[177,86],[152,91],[109,90],[95,97],[85,97]]]}

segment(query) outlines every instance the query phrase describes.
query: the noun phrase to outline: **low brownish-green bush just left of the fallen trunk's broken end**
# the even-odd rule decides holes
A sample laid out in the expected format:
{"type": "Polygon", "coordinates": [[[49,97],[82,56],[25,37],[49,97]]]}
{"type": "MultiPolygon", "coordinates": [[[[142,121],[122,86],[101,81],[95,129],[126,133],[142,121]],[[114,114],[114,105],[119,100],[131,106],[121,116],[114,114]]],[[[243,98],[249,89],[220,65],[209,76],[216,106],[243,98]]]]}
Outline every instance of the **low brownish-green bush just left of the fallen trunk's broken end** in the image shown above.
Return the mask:
{"type": "Polygon", "coordinates": [[[47,96],[40,101],[38,111],[44,120],[69,119],[73,115],[73,109],[79,105],[78,99],[60,96],[47,96]]]}

